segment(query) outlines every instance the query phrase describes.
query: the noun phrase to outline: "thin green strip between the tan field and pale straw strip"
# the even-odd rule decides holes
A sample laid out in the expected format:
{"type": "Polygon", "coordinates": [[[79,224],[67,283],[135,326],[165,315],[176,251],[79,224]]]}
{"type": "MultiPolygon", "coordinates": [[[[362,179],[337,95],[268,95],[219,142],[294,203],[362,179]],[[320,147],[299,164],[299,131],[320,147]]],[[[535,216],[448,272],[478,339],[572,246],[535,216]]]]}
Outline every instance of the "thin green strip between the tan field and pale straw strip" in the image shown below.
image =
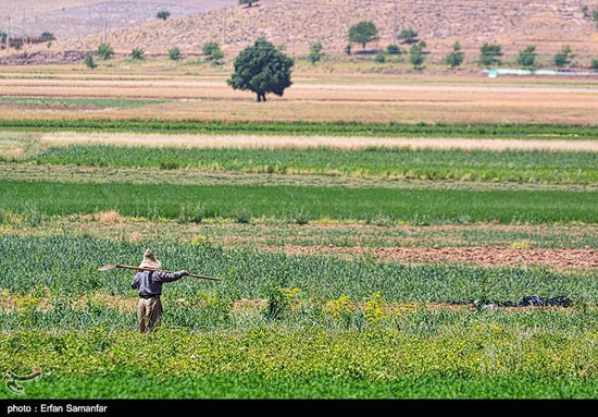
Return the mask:
{"type": "Polygon", "coordinates": [[[184,122],[159,120],[1,119],[0,128],[32,132],[139,132],[301,136],[597,139],[598,126],[550,124],[401,124],[360,122],[184,122]]]}

